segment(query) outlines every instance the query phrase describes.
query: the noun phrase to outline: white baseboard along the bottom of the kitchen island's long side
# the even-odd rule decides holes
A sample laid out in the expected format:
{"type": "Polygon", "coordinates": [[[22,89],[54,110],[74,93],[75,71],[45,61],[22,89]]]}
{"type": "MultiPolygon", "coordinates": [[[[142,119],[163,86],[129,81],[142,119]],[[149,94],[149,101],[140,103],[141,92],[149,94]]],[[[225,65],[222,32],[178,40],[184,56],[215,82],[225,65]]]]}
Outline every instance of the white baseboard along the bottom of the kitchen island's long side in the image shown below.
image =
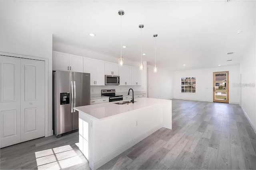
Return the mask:
{"type": "MultiPolygon", "coordinates": [[[[109,162],[110,160],[112,160],[113,158],[115,158],[116,156],[118,156],[119,154],[124,152],[125,150],[129,149],[130,147],[136,145],[137,143],[139,143],[140,141],[142,141],[143,139],[145,139],[146,137],[148,137],[149,135],[151,135],[152,133],[154,133],[161,127],[162,127],[162,125],[158,125],[158,126],[154,127],[153,129],[150,129],[146,133],[144,133],[144,134],[140,135],[139,137],[137,137],[136,139],[126,143],[125,145],[123,145],[122,147],[113,151],[112,153],[108,154],[106,157],[102,158],[101,160],[95,162],[93,164],[93,169],[100,168],[102,165],[106,164],[107,162],[109,162]]],[[[90,166],[90,167],[92,167],[92,166],[90,166]]]]}

